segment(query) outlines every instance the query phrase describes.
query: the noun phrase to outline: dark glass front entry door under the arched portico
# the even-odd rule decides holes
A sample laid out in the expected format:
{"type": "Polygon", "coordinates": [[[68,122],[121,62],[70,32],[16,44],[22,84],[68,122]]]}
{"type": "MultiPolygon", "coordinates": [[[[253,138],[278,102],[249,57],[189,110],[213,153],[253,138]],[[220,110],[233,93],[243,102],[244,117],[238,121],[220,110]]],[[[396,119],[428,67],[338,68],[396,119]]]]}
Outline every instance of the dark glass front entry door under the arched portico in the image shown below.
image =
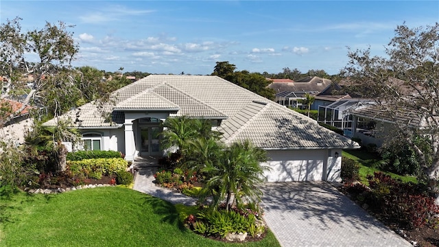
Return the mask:
{"type": "Polygon", "coordinates": [[[141,127],[141,156],[161,154],[160,133],[160,127],[141,127]]]}

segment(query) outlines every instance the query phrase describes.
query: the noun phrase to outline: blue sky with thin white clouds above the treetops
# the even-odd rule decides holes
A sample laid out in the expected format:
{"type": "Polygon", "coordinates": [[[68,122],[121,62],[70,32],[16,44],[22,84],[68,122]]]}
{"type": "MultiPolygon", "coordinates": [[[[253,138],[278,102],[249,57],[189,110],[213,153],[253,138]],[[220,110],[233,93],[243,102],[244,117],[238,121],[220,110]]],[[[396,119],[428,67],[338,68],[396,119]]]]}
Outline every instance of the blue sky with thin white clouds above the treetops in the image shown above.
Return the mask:
{"type": "Polygon", "coordinates": [[[75,66],[204,75],[229,61],[250,72],[335,74],[346,47],[383,56],[397,25],[439,22],[439,1],[1,0],[1,23],[16,16],[23,31],[75,25],[75,66]]]}

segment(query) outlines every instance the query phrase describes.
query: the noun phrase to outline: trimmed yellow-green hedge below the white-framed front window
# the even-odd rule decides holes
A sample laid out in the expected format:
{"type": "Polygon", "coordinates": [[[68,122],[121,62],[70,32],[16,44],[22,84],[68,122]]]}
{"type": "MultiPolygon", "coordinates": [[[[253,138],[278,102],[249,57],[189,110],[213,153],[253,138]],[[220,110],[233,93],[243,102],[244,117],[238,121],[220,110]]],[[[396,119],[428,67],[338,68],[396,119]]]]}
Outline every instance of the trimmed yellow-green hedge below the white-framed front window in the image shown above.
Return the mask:
{"type": "Polygon", "coordinates": [[[125,172],[128,161],[123,158],[88,158],[82,161],[67,161],[67,167],[73,176],[84,174],[99,177],[99,174],[109,176],[125,172]]]}

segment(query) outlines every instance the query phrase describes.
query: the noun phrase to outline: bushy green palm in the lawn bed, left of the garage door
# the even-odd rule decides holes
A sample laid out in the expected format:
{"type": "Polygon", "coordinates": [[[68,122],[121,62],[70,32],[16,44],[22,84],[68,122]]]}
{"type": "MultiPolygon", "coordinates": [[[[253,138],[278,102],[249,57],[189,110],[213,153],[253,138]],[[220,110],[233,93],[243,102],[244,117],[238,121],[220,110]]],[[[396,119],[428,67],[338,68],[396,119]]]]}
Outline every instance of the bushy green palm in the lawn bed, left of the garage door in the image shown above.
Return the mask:
{"type": "Polygon", "coordinates": [[[213,209],[226,198],[226,210],[230,209],[230,199],[235,195],[237,207],[249,202],[259,202],[262,192],[257,187],[263,182],[263,172],[268,167],[261,166],[267,161],[265,151],[254,147],[250,141],[233,143],[222,152],[217,163],[206,163],[204,172],[210,175],[206,188],[213,195],[213,209]]]}

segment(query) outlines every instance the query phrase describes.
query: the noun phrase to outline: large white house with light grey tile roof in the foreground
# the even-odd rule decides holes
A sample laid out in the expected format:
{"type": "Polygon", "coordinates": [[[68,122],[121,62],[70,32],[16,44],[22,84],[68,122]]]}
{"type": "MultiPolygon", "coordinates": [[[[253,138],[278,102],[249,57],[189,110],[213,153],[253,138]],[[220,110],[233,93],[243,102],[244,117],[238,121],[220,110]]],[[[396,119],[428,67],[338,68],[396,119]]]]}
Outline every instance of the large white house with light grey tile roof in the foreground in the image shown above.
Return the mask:
{"type": "MultiPolygon", "coordinates": [[[[317,121],[211,75],[149,75],[115,91],[114,104],[88,103],[62,115],[82,132],[86,148],[118,150],[126,160],[162,156],[167,117],[210,119],[224,143],[252,141],[267,151],[268,181],[340,180],[342,150],[358,143],[317,121]]],[[[55,126],[57,119],[45,123],[55,126]]]]}

